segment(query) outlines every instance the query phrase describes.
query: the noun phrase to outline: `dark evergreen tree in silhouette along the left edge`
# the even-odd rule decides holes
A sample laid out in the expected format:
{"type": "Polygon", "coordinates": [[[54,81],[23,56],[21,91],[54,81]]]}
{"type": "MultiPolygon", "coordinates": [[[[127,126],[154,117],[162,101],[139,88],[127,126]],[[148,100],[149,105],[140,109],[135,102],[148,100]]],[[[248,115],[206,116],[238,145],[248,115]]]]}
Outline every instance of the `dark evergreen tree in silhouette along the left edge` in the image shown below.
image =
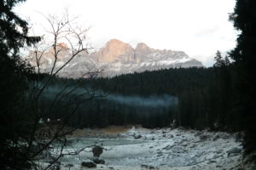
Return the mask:
{"type": "Polygon", "coordinates": [[[26,139],[29,118],[23,108],[27,89],[26,74],[31,68],[19,56],[20,48],[40,37],[29,37],[26,20],[13,12],[24,0],[0,2],[0,169],[27,169],[30,162],[20,144],[26,139]]]}

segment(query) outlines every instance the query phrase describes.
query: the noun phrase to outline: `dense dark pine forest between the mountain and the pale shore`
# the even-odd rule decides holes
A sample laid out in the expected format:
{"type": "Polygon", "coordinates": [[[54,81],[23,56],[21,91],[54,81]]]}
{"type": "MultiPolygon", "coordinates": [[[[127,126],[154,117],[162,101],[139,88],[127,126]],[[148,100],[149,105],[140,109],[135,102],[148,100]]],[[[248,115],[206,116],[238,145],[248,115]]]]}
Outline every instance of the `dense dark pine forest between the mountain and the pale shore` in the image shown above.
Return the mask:
{"type": "MultiPolygon", "coordinates": [[[[56,77],[51,85],[57,89],[64,82],[79,82],[79,88],[85,88],[79,84],[87,84],[88,88],[96,92],[104,92],[105,97],[80,106],[79,114],[84,117],[82,127],[127,124],[168,127],[174,121],[177,126],[183,127],[237,131],[241,129],[241,115],[236,111],[238,97],[234,87],[235,74],[233,64],[230,64],[229,59],[223,59],[218,52],[216,64],[212,68],[175,68],[90,80],[56,77]],[[139,96],[143,99],[167,95],[177,98],[177,105],[172,105],[171,100],[170,106],[166,103],[166,107],[154,109],[148,105],[142,108],[140,105],[127,105],[118,102],[118,99],[109,99],[117,98],[117,95],[123,98],[139,96]]],[[[158,101],[155,99],[153,102],[158,101]]]]}

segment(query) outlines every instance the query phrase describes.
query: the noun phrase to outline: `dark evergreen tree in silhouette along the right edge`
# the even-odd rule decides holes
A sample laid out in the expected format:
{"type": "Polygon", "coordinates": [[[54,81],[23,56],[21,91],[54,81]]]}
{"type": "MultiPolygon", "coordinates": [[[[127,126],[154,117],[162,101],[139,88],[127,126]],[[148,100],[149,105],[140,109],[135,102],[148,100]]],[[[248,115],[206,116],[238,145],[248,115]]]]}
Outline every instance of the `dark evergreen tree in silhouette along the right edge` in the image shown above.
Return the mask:
{"type": "Polygon", "coordinates": [[[250,152],[256,150],[256,1],[236,0],[236,8],[230,20],[240,31],[236,48],[231,51],[230,57],[235,60],[238,75],[236,88],[246,129],[244,144],[250,152]]]}

